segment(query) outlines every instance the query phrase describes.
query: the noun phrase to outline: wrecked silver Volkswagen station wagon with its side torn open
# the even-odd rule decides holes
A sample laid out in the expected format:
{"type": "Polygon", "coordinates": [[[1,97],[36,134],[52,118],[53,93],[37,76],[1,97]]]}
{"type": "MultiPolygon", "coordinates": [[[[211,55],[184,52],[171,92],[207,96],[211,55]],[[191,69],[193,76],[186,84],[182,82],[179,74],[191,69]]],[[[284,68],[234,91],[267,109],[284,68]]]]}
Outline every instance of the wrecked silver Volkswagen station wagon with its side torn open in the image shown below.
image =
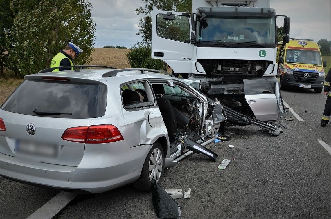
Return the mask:
{"type": "Polygon", "coordinates": [[[203,143],[226,115],[198,83],[152,69],[53,69],[24,76],[1,106],[1,176],[90,193],[129,183],[149,191],[186,152],[216,160],[203,143]]]}

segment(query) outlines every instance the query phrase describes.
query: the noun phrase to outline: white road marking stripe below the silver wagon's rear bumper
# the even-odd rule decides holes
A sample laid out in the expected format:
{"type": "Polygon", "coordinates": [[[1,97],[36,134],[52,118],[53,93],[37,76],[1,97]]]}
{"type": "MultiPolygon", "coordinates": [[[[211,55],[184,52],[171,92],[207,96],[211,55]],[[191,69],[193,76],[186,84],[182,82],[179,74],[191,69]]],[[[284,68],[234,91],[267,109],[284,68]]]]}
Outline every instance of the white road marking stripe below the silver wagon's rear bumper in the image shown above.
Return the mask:
{"type": "Polygon", "coordinates": [[[27,219],[51,219],[76,196],[76,193],[60,192],[46,204],[36,210],[33,214],[31,214],[27,219]]]}

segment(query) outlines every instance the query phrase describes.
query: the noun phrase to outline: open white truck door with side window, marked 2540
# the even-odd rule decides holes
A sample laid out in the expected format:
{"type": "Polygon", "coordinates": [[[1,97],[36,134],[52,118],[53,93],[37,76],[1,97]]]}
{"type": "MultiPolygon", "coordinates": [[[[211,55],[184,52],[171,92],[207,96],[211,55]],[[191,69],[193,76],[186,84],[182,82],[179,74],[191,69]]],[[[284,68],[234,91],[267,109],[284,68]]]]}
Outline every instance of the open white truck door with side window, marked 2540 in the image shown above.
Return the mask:
{"type": "Polygon", "coordinates": [[[175,73],[191,73],[194,45],[191,18],[183,12],[153,11],[152,58],[166,62],[175,73]]]}

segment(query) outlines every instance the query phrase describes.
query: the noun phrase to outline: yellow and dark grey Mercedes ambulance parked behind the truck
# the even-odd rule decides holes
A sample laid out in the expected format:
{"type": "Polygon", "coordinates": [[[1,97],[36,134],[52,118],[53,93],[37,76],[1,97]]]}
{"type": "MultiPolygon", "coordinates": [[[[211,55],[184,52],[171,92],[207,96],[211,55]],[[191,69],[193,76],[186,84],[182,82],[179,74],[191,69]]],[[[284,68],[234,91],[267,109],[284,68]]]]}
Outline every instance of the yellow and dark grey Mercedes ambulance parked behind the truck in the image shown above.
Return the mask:
{"type": "Polygon", "coordinates": [[[290,38],[290,42],[277,47],[277,77],[281,90],[310,88],[321,93],[326,61],[322,61],[317,43],[310,39],[290,38]]]}

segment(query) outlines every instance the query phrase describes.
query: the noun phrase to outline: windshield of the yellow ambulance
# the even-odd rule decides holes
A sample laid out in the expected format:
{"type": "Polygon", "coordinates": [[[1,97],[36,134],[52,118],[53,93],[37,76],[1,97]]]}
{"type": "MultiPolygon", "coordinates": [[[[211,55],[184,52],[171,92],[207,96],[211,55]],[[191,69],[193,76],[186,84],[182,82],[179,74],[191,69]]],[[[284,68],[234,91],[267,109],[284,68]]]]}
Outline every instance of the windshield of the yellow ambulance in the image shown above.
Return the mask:
{"type": "Polygon", "coordinates": [[[322,65],[319,51],[287,49],[285,62],[322,65]]]}

